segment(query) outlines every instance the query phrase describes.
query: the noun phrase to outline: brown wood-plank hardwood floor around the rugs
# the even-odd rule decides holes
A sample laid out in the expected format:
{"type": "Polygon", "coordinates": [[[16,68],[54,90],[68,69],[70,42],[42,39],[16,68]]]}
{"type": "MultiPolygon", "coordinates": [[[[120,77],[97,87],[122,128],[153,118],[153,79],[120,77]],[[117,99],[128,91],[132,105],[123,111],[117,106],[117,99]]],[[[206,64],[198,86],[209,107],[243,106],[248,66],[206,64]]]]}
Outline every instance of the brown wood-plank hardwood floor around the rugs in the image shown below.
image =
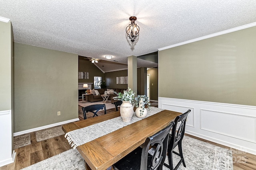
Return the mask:
{"type": "MultiPolygon", "coordinates": [[[[107,113],[115,111],[115,109],[108,109],[107,113]]],[[[255,170],[256,169],[256,155],[242,152],[241,150],[232,149],[224,145],[213,143],[192,135],[188,135],[195,139],[223,147],[225,149],[232,150],[233,156],[233,168],[234,170],[255,170]]],[[[14,163],[0,167],[0,170],[20,170],[44,159],[50,158],[56,154],[71,149],[68,141],[64,138],[64,135],[54,137],[45,141],[37,142],[36,133],[30,133],[31,144],[25,147],[15,149],[16,158],[14,163]]]]}

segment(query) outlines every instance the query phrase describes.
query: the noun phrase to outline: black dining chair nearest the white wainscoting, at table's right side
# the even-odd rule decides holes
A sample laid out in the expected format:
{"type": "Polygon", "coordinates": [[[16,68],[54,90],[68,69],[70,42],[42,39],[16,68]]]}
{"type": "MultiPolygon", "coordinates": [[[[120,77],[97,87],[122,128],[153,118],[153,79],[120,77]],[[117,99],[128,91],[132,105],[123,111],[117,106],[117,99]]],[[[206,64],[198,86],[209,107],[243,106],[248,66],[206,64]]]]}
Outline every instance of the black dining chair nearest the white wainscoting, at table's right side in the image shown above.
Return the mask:
{"type": "Polygon", "coordinates": [[[179,115],[175,118],[175,120],[174,120],[175,124],[172,127],[172,133],[169,134],[168,149],[167,149],[169,165],[164,163],[164,166],[166,166],[170,170],[178,169],[181,162],[183,163],[183,166],[186,167],[186,164],[184,161],[184,156],[182,153],[182,139],[183,139],[184,133],[185,133],[186,119],[187,119],[188,113],[190,113],[190,111],[191,110],[188,109],[188,111],[186,111],[182,115],[179,115]],[[178,130],[176,131],[177,127],[178,127],[178,130]],[[174,151],[174,148],[177,145],[178,145],[179,153],[174,151]],[[180,161],[175,166],[175,168],[173,168],[172,153],[180,156],[180,161]]]}

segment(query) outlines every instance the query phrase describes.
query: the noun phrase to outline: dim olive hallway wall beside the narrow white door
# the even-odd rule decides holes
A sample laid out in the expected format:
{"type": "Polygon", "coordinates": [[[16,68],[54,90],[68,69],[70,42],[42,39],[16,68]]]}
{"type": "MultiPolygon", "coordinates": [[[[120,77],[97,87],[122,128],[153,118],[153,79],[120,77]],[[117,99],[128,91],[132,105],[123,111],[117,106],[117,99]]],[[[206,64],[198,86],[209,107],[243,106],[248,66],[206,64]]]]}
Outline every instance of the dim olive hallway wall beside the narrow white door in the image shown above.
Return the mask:
{"type": "Polygon", "coordinates": [[[150,68],[147,74],[150,74],[150,100],[158,100],[158,69],[150,68]]]}

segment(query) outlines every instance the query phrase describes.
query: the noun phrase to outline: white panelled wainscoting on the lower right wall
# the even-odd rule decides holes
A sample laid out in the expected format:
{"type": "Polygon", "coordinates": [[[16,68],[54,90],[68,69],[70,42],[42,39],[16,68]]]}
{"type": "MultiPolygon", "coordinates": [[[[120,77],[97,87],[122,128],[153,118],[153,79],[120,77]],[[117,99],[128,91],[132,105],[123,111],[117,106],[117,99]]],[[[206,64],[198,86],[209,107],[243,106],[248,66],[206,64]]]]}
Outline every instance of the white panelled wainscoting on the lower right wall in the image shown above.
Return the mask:
{"type": "Polygon", "coordinates": [[[256,107],[158,98],[158,107],[184,113],[190,135],[256,155],[256,107]]]}

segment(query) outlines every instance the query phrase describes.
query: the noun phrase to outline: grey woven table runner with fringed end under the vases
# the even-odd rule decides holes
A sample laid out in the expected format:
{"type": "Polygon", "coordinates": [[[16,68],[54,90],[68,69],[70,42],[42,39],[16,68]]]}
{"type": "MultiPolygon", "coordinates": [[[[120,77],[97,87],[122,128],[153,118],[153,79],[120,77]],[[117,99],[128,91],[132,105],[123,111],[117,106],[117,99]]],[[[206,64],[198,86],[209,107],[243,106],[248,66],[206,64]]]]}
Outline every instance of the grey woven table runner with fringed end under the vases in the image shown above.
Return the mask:
{"type": "MultiPolygon", "coordinates": [[[[146,117],[154,115],[163,110],[164,109],[160,109],[157,107],[150,107],[150,110],[148,110],[148,108],[147,108],[148,114],[146,117]]],[[[146,117],[144,117],[144,118],[146,118],[146,117]]],[[[81,128],[81,129],[76,129],[74,131],[70,131],[70,132],[66,133],[65,138],[68,140],[68,143],[71,145],[71,147],[73,147],[75,149],[79,145],[83,145],[84,143],[87,143],[94,139],[102,137],[108,133],[116,131],[122,127],[130,125],[130,124],[132,124],[136,121],[139,121],[141,119],[142,118],[138,118],[134,112],[134,115],[132,116],[132,119],[130,122],[123,122],[122,118],[119,116],[119,117],[115,117],[113,119],[109,119],[106,121],[102,121],[100,123],[96,123],[94,125],[90,125],[90,126],[81,128]]]]}

